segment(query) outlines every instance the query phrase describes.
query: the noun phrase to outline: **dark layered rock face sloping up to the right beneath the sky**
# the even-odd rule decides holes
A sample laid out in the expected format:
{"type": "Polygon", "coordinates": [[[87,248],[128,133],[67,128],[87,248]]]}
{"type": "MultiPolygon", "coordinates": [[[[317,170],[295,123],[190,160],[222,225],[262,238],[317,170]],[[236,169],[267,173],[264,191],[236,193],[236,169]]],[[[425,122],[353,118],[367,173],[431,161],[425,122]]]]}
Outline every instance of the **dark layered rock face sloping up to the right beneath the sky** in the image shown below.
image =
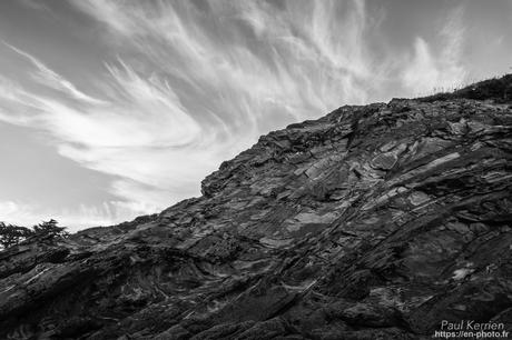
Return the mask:
{"type": "Polygon", "coordinates": [[[345,106],[262,137],[200,198],[0,252],[0,339],[512,327],[511,84],[345,106]]]}

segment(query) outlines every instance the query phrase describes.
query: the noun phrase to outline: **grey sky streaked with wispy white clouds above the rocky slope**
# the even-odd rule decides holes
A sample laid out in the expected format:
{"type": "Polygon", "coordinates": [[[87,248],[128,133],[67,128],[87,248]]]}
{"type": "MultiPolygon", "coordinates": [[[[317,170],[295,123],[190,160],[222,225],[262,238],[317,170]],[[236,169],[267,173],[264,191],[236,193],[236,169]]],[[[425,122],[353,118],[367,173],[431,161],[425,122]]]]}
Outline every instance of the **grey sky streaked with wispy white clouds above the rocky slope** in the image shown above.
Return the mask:
{"type": "Polygon", "coordinates": [[[0,221],[158,212],[260,134],[512,72],[512,0],[2,0],[0,221]]]}

